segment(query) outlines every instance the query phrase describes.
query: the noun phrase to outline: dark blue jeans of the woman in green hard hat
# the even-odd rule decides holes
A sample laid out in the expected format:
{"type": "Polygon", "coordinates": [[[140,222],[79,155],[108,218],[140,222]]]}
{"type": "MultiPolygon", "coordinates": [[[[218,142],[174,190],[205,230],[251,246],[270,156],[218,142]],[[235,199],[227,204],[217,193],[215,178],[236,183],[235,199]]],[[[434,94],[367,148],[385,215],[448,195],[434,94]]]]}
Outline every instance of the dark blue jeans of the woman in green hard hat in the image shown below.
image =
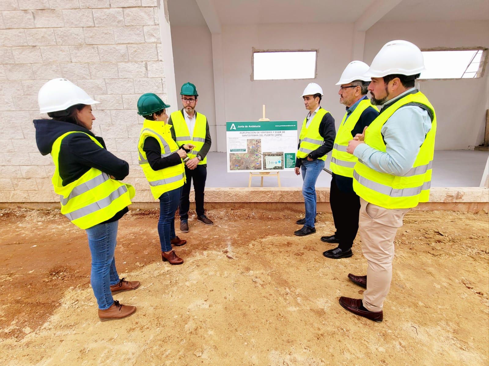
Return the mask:
{"type": "Polygon", "coordinates": [[[158,234],[161,251],[168,252],[172,250],[170,240],[175,235],[175,212],[180,203],[182,188],[176,188],[173,191],[165,192],[159,197],[159,220],[158,234]]]}

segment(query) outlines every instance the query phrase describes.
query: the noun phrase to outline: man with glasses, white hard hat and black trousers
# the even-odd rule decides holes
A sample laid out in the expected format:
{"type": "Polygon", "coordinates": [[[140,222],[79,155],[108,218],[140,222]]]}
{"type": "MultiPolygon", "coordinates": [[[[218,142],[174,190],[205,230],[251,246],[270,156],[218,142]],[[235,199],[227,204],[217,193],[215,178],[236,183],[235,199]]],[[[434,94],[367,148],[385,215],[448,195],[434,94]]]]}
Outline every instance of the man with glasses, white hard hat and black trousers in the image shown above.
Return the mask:
{"type": "Polygon", "coordinates": [[[346,113],[336,133],[331,152],[330,204],[336,231],[331,236],[321,237],[326,243],[338,243],[336,248],[323,253],[326,258],[340,259],[353,256],[353,240],[358,231],[360,197],[353,190],[353,167],[358,159],[346,152],[348,141],[362,133],[378,116],[377,107],[367,98],[370,78],[363,76],[369,65],[352,61],[341,74],[338,94],[339,102],[346,107],[346,113]]]}

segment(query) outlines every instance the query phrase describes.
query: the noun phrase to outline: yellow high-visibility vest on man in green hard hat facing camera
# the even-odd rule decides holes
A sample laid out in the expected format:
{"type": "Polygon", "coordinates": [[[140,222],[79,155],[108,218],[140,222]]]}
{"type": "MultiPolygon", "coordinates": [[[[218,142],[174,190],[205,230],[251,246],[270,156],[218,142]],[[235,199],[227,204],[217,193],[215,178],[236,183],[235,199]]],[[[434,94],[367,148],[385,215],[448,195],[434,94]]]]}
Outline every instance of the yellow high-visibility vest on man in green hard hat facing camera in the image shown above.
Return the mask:
{"type": "MultiPolygon", "coordinates": [[[[172,114],[173,128],[175,129],[175,137],[178,146],[182,146],[184,144],[192,144],[195,145],[195,148],[187,154],[189,158],[194,158],[199,153],[202,146],[204,146],[205,142],[205,132],[207,128],[207,117],[205,117],[202,113],[195,112],[195,127],[194,127],[194,135],[190,136],[190,132],[188,130],[187,123],[185,122],[185,118],[183,118],[183,114],[181,110],[176,110],[172,114]]],[[[199,164],[207,164],[207,156],[205,156],[199,164]]]]}

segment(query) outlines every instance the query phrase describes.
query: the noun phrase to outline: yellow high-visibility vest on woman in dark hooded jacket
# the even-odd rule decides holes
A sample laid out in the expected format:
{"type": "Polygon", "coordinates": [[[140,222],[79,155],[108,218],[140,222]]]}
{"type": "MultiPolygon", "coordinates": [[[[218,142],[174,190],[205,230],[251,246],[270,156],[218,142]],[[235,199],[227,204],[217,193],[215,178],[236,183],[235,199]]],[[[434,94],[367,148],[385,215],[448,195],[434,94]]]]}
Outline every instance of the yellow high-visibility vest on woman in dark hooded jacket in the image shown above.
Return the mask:
{"type": "MultiPolygon", "coordinates": [[[[107,221],[129,206],[135,190],[132,185],[111,179],[109,174],[95,168],[90,168],[80,178],[63,186],[63,179],[59,174],[59,152],[61,142],[71,133],[85,132],[70,131],[54,141],[51,157],[55,170],[51,181],[54,192],[60,196],[61,213],[79,228],[88,229],[107,221]]],[[[85,134],[103,149],[96,138],[85,134]]]]}

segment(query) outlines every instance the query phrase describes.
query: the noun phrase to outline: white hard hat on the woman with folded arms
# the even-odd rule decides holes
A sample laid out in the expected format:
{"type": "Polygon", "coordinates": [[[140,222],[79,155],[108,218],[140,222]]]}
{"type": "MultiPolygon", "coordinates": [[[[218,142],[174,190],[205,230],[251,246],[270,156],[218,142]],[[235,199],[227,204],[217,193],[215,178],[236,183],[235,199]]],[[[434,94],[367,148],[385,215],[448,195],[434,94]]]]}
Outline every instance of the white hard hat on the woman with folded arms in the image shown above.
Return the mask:
{"type": "Polygon", "coordinates": [[[90,98],[81,87],[62,78],[49,80],[41,86],[37,101],[41,113],[65,110],[76,104],[92,105],[100,103],[90,98]]]}

